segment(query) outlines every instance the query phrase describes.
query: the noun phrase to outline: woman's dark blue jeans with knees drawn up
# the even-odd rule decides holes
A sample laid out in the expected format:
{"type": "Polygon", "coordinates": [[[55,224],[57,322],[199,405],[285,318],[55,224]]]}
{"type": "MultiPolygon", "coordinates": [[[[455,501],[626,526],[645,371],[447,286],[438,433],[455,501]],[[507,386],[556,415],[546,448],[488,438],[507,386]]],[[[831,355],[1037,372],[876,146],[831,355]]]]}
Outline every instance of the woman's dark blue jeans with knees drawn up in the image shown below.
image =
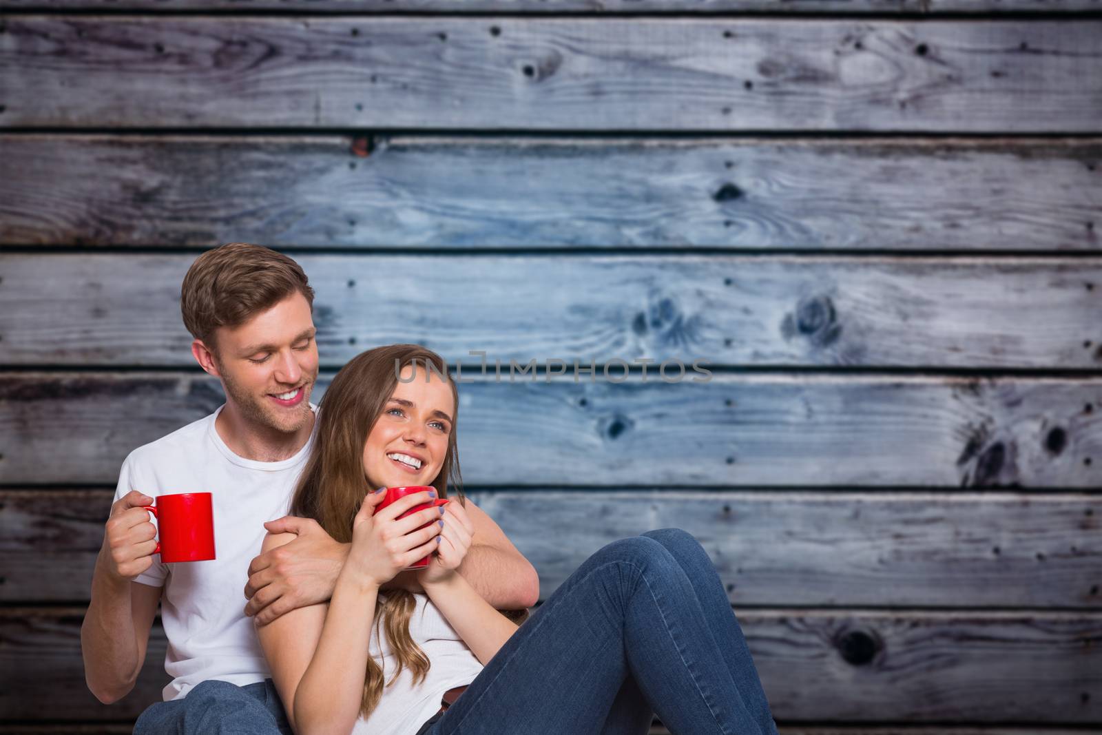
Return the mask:
{"type": "Polygon", "coordinates": [[[431,735],[776,735],[731,603],[700,543],[661,529],[590,556],[431,735]]]}

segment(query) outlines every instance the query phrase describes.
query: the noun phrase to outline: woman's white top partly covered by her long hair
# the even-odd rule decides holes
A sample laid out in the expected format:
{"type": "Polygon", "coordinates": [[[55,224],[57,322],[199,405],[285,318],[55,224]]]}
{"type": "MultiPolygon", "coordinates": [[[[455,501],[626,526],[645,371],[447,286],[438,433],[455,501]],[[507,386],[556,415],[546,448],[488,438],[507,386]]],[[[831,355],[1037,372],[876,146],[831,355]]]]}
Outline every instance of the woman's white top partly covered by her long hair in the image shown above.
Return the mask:
{"type": "Polygon", "coordinates": [[[353,735],[415,735],[426,720],[440,711],[440,700],[450,689],[474,681],[483,666],[460,634],[447,623],[428,595],[413,595],[417,607],[410,617],[410,637],[432,666],[424,680],[413,685],[413,675],[403,668],[398,680],[391,678],[397,668],[393,651],[383,626],[371,626],[371,658],[382,657],[386,687],[379,705],[367,720],[360,717],[353,735]]]}

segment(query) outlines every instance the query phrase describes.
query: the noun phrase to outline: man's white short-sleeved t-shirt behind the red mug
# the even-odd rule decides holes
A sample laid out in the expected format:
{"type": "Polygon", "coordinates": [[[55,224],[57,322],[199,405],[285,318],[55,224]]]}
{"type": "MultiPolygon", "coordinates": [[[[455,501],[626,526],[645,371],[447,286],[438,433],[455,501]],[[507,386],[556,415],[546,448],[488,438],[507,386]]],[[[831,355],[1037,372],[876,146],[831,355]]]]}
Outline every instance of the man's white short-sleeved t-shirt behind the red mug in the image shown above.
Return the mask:
{"type": "Polygon", "coordinates": [[[263,543],[263,522],[288,514],[314,436],[282,462],[246,460],[215,430],[222,408],[131,452],[115,493],[116,500],[130,490],[152,497],[212,494],[216,559],[164,564],[153,556],[153,565],[134,580],[164,587],[164,669],[173,678],[163,690],[165,701],[207,679],[244,687],[271,677],[252,618],[245,615],[245,584],[263,543]]]}

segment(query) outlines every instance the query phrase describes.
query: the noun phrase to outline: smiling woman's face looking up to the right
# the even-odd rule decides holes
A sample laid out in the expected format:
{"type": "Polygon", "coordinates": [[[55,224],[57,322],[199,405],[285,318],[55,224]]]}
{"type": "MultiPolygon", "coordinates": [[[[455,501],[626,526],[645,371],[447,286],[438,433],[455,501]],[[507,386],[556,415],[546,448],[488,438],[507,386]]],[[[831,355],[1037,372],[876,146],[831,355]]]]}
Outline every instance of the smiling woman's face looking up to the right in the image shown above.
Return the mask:
{"type": "Polygon", "coordinates": [[[372,489],[431,485],[447,455],[455,415],[451,386],[421,365],[407,365],[400,375],[364,445],[364,475],[372,489]]]}

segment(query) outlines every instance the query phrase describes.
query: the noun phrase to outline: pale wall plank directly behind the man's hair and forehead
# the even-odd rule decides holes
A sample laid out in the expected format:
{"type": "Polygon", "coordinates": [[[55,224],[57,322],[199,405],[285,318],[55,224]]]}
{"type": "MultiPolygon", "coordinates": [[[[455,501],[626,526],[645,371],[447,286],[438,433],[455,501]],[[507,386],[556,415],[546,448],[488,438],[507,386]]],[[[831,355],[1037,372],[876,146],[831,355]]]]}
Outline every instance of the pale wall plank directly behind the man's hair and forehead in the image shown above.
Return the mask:
{"type": "MultiPolygon", "coordinates": [[[[0,363],[191,366],[193,255],[0,255],[0,363]]],[[[415,342],[450,363],[1098,368],[1081,258],[300,256],[323,363],[415,342]],[[429,291],[425,292],[426,284],[429,291]],[[507,307],[506,307],[507,306],[507,307]]],[[[598,370],[601,368],[598,367],[598,370]]],[[[656,366],[657,369],[657,366],[656,366]]],[[[691,368],[689,368],[691,372],[691,368]]]]}

